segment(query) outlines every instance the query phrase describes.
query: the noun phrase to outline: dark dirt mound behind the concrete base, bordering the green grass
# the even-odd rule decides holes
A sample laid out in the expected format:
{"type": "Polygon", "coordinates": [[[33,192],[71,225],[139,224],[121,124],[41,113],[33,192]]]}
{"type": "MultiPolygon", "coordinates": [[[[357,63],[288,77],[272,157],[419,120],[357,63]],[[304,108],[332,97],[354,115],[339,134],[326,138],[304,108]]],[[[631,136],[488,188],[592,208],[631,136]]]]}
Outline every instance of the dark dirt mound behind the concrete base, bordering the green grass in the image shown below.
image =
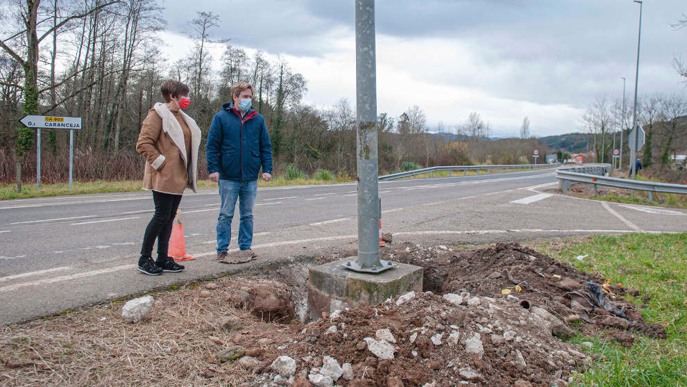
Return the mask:
{"type": "Polygon", "coordinates": [[[665,338],[661,325],[644,321],[639,310],[642,306],[622,299],[626,293],[638,295],[637,290],[618,284],[601,288],[604,279],[517,243],[465,251],[416,245],[399,250],[394,260],[424,268],[425,290],[467,290],[486,297],[504,297],[502,290],[507,289],[514,297],[544,308],[564,322],[584,320],[588,323],[582,326],[585,331],[610,327],[665,338]],[[598,302],[600,293],[603,303],[598,302]]]}

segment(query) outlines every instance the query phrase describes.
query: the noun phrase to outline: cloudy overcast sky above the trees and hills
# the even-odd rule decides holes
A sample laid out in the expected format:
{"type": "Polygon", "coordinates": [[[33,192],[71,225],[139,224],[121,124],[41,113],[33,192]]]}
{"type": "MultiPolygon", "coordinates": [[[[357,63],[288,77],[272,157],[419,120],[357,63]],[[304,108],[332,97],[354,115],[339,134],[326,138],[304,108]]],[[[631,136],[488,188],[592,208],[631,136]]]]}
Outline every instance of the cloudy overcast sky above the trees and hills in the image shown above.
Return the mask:
{"type": "MultiPolygon", "coordinates": [[[[229,38],[248,53],[283,56],[307,80],[305,102],[355,106],[353,0],[165,2],[170,62],[191,43],[183,31],[196,11],[219,15],[212,38],[229,38]]],[[[378,112],[397,117],[418,105],[430,130],[477,111],[493,134],[514,136],[523,117],[533,135],[579,131],[579,115],[594,99],[631,104],[639,5],[631,0],[378,0],[378,112]]],[[[687,59],[685,0],[646,0],[639,94],[686,93],[672,67],[687,59]]],[[[219,67],[224,46],[212,53],[219,67]]],[[[683,79],[684,80],[684,79],[683,79]]]]}

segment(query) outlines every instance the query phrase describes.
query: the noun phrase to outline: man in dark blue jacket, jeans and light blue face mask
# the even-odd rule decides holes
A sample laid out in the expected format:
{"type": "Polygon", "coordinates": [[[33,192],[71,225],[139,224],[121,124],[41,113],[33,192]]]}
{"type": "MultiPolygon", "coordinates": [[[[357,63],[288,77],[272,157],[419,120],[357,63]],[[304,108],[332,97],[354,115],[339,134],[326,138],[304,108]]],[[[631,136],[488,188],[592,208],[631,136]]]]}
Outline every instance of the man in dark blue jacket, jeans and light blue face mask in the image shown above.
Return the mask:
{"type": "Polygon", "coordinates": [[[221,208],[217,219],[217,261],[240,263],[255,258],[253,244],[253,205],[257,179],[272,177],[272,145],[262,115],[251,107],[253,87],[245,82],[231,87],[232,102],[215,114],[207,133],[207,172],[219,182],[221,208]],[[241,252],[227,258],[231,221],[239,199],[239,238],[241,252]]]}

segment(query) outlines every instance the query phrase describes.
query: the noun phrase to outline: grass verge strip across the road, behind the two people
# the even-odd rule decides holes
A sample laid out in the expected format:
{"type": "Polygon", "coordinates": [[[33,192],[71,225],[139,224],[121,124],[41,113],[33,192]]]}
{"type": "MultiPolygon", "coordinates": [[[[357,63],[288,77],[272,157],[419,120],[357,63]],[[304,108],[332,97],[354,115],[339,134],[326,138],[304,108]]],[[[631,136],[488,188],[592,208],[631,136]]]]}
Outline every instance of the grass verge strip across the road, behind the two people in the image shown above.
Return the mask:
{"type": "MultiPolygon", "coordinates": [[[[277,186],[304,186],[304,185],[316,185],[316,184],[335,184],[335,183],[347,183],[353,181],[353,179],[348,179],[346,177],[334,176],[333,179],[323,180],[323,179],[310,179],[310,178],[299,178],[299,179],[285,179],[282,176],[273,177],[270,181],[263,181],[260,179],[258,181],[258,186],[260,187],[277,187],[277,186]]],[[[28,197],[47,197],[47,196],[58,196],[58,195],[81,195],[81,194],[94,194],[94,193],[108,193],[108,192],[136,192],[141,190],[142,181],[140,180],[126,180],[126,181],[89,181],[82,183],[80,181],[74,181],[72,184],[72,189],[69,190],[69,185],[67,183],[55,183],[55,184],[41,184],[40,190],[36,188],[35,183],[22,185],[22,192],[17,192],[17,186],[15,184],[0,184],[0,200],[4,199],[24,199],[28,197]]],[[[217,188],[217,183],[210,180],[199,180],[198,189],[212,189],[217,188]]]]}

